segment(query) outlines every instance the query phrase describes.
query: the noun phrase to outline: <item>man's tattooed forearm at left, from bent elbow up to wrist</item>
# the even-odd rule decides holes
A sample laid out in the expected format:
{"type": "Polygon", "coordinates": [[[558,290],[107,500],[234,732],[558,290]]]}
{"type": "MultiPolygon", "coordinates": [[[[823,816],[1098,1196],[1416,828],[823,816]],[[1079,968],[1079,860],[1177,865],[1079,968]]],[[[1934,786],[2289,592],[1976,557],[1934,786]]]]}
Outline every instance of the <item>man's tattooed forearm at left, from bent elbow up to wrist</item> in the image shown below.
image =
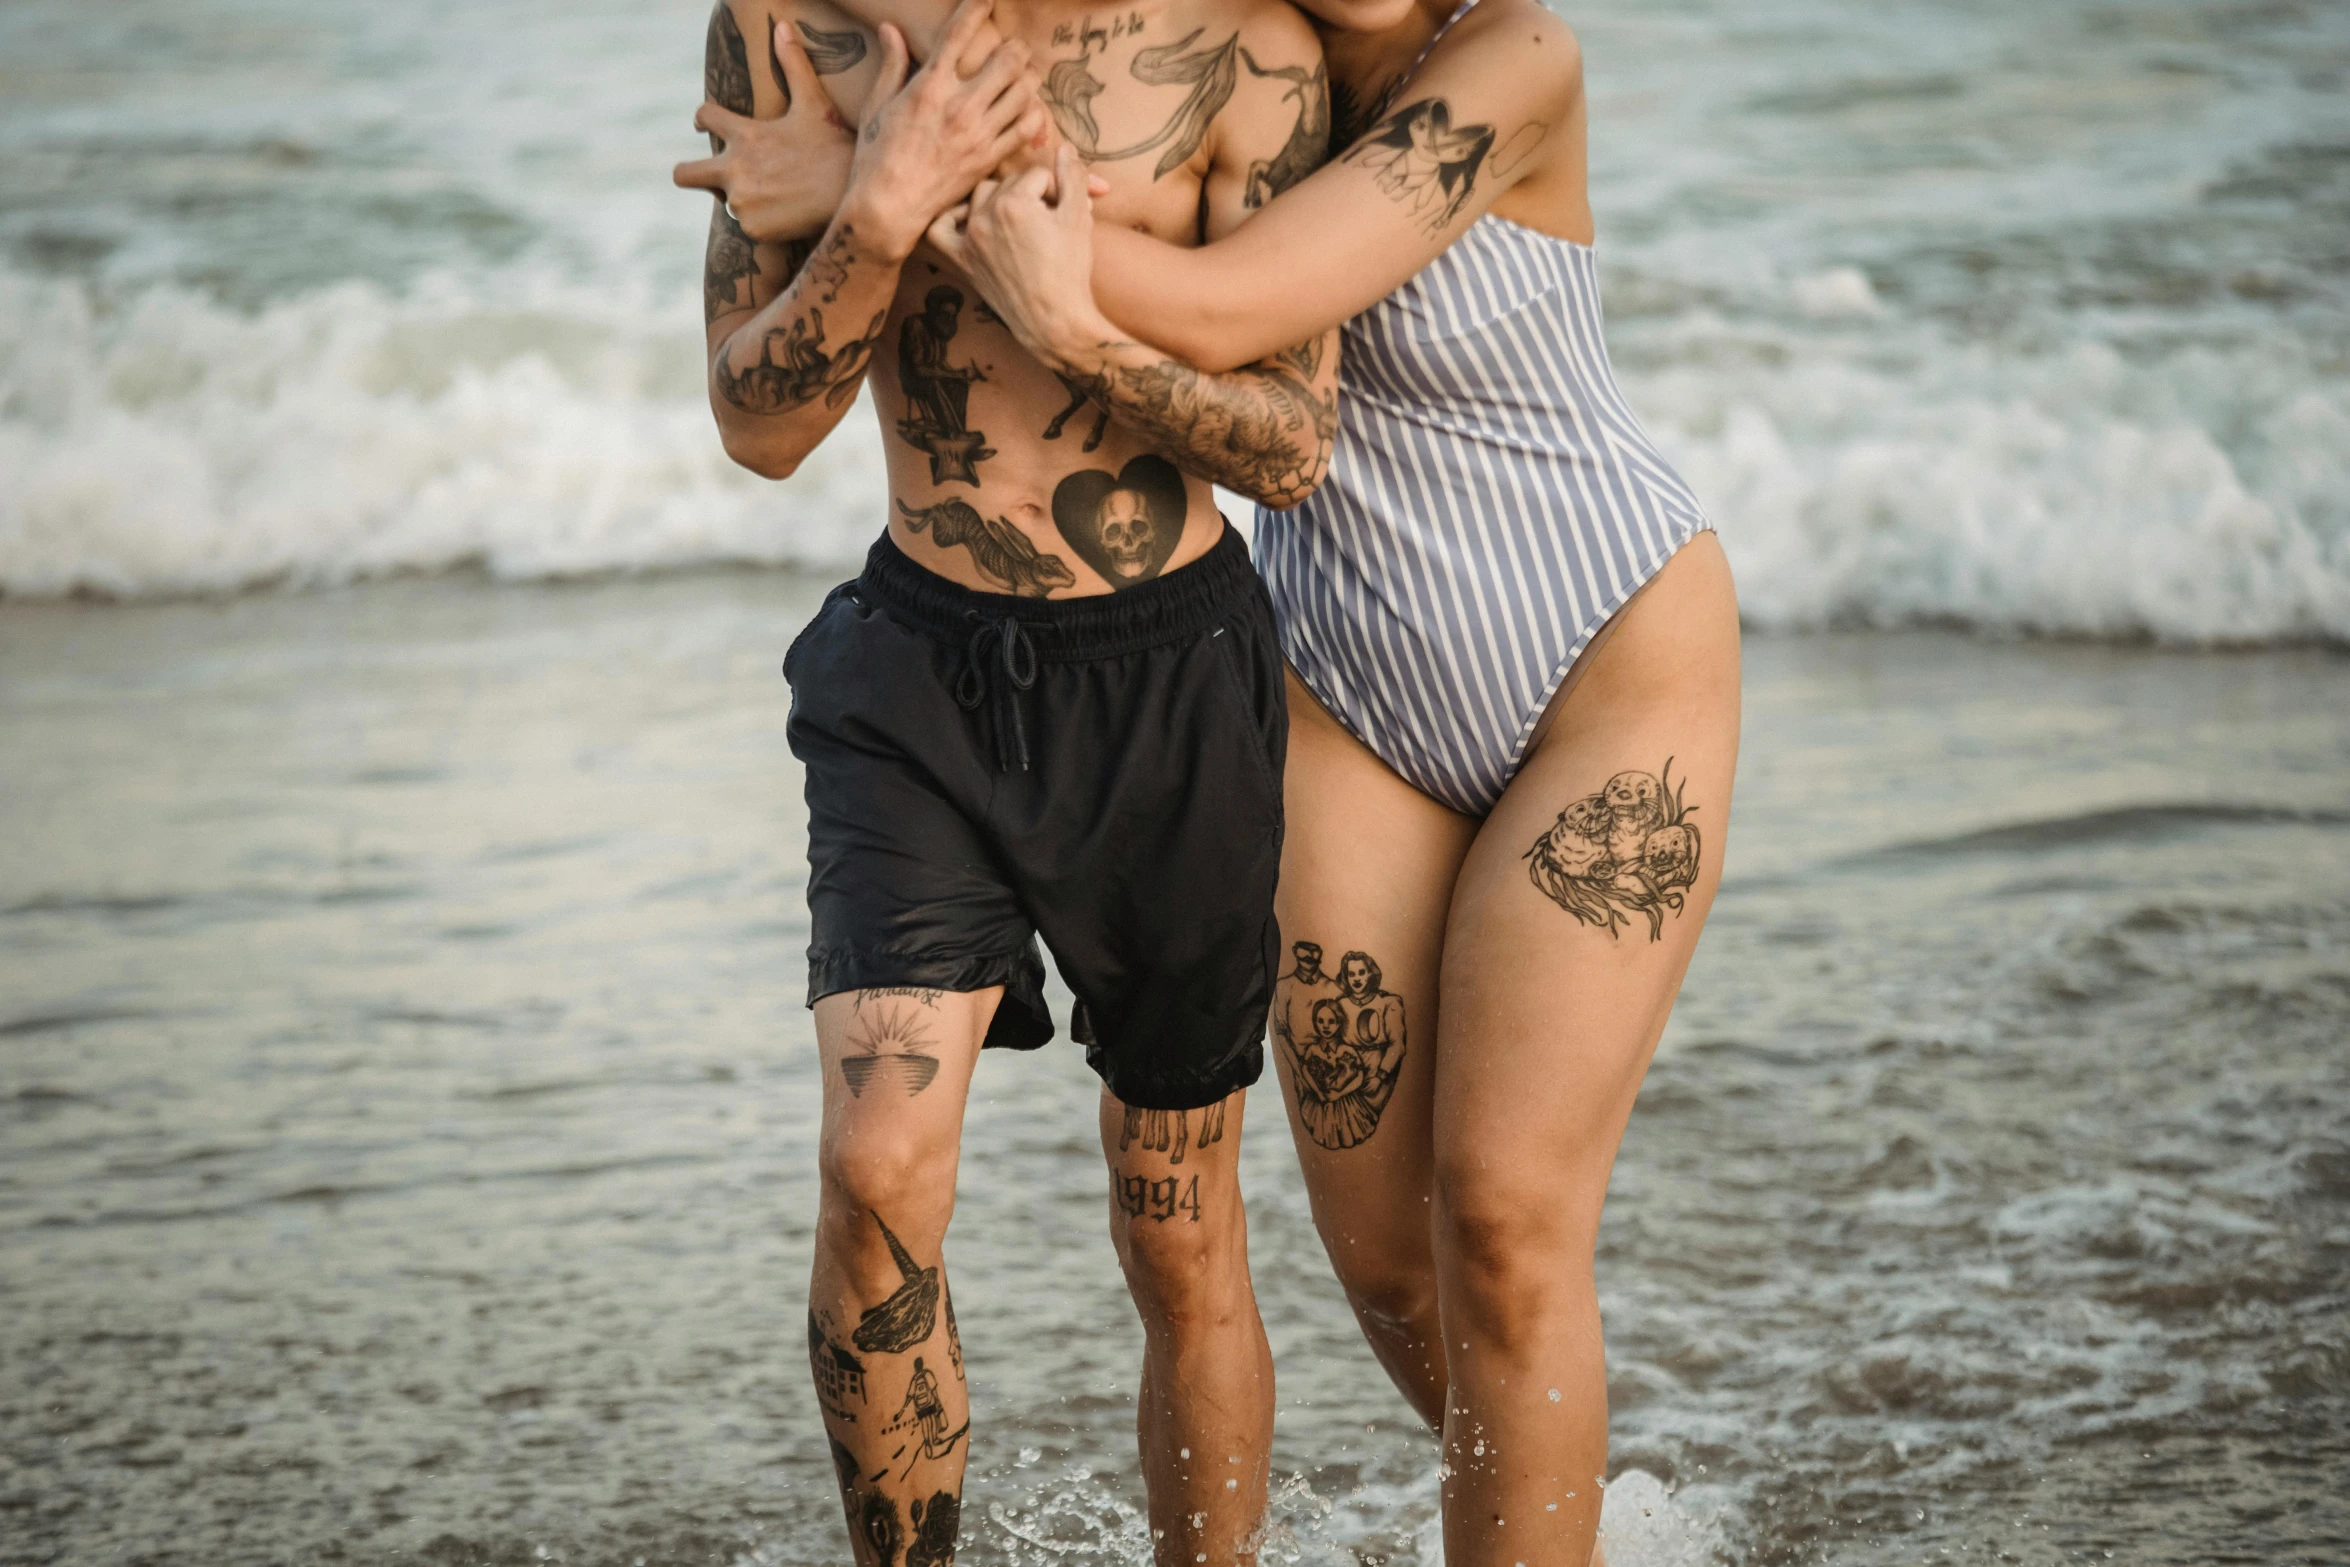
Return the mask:
{"type": "Polygon", "coordinates": [[[881,343],[902,265],[860,244],[853,218],[834,218],[790,287],[717,338],[710,409],[736,463],[783,479],[832,435],[881,343]]]}

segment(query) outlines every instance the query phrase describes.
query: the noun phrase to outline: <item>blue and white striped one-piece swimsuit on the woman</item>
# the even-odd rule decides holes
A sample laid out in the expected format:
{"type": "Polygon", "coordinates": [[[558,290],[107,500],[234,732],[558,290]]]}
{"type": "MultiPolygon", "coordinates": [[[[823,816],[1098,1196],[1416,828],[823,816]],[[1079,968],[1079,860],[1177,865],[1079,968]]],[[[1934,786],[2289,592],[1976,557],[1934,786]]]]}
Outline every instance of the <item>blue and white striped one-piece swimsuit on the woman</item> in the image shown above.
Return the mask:
{"type": "Polygon", "coordinates": [[[1307,691],[1485,815],[1574,658],[1706,526],[1617,388],[1591,247],[1488,214],[1347,322],[1330,477],[1257,512],[1255,557],[1307,691]]]}

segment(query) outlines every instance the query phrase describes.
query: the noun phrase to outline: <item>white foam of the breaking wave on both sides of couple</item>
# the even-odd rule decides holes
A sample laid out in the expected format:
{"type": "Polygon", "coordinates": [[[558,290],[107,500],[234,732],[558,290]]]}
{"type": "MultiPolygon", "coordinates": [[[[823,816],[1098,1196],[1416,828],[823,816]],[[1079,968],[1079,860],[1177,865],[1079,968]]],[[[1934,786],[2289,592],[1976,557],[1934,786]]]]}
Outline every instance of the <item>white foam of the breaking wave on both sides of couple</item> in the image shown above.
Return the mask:
{"type": "MultiPolygon", "coordinates": [[[[1946,343],[1866,280],[1784,324],[1640,322],[1636,406],[1760,627],[2350,639],[2350,385],[2291,343],[1946,343]]],[[[733,468],[691,298],[442,275],[240,312],[0,273],[0,592],[190,594],[477,566],[848,571],[870,411],[733,468]]]]}

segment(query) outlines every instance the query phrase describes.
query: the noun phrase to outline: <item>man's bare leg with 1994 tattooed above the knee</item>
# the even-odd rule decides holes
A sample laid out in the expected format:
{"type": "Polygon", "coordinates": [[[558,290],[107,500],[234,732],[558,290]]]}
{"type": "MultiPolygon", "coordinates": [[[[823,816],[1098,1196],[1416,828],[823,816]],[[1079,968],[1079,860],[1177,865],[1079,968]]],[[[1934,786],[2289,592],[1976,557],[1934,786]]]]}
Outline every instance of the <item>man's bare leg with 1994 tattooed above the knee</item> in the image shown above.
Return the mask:
{"type": "Polygon", "coordinates": [[[1274,1351],[1248,1280],[1246,1099],[1156,1111],[1102,1090],[1109,1236],[1142,1313],[1137,1426],[1161,1567],[1257,1560],[1274,1351]]]}

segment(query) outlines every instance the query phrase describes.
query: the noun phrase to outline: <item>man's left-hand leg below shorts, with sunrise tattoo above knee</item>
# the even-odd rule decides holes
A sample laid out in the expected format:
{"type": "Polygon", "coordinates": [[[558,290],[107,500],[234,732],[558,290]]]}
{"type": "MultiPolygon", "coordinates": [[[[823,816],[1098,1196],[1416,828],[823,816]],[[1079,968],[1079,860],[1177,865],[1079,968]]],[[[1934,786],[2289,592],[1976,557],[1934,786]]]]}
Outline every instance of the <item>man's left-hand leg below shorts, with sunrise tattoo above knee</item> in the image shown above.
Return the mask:
{"type": "Polygon", "coordinates": [[[808,1372],[860,1567],[945,1567],[971,1398],[942,1245],[964,1102],[1003,991],[865,989],[815,1003],[822,1198],[808,1372]]]}

